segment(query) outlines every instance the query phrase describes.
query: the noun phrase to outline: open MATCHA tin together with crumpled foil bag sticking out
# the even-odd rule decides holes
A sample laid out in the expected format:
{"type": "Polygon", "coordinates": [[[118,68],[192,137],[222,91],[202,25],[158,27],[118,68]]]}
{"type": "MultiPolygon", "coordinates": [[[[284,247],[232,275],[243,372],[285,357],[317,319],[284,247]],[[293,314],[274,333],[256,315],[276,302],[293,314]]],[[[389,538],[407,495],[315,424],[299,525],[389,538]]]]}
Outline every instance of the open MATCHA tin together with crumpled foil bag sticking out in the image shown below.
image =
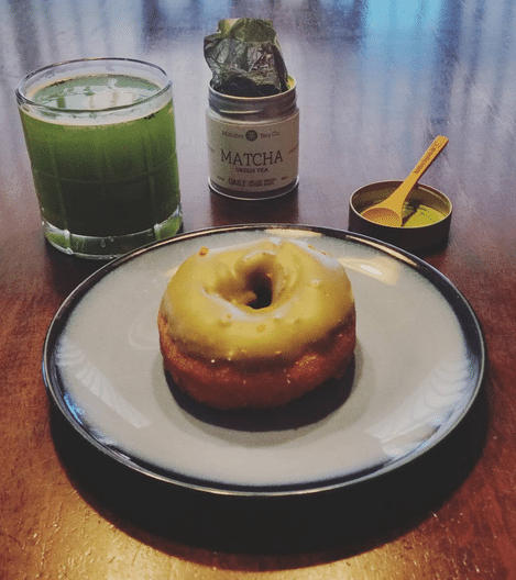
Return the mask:
{"type": "Polygon", "coordinates": [[[298,182],[299,111],[276,32],[267,20],[219,22],[205,38],[211,71],[209,185],[240,199],[270,199],[298,182]]]}

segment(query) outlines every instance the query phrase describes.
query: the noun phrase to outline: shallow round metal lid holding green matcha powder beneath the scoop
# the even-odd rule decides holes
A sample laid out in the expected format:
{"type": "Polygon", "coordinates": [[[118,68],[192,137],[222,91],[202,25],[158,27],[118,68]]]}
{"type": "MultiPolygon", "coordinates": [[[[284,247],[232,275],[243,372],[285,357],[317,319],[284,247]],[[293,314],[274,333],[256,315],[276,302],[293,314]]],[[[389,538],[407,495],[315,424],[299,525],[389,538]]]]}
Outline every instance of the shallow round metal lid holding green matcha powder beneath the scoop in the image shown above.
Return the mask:
{"type": "Polygon", "coordinates": [[[404,205],[400,227],[381,225],[361,213],[385,200],[402,181],[377,181],[358,189],[350,198],[349,230],[406,249],[425,254],[446,246],[450,232],[451,201],[437,189],[416,185],[404,205]]]}

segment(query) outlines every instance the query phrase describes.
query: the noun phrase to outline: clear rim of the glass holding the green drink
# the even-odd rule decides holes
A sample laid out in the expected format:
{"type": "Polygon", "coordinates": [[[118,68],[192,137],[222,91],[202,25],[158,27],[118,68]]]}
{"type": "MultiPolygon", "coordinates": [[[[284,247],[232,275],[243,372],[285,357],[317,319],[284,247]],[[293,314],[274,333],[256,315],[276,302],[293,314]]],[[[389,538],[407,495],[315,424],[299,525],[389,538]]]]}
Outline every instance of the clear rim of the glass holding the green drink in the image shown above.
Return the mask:
{"type": "MultiPolygon", "coordinates": [[[[70,77],[70,78],[73,78],[73,77],[70,77]]],[[[52,85],[52,82],[51,82],[51,85],[52,85]]],[[[43,88],[43,86],[45,86],[45,85],[42,85],[42,88],[43,88]]],[[[18,83],[17,89],[15,89],[14,92],[15,92],[19,105],[20,104],[25,104],[25,105],[29,105],[31,108],[41,109],[41,110],[48,111],[48,112],[52,112],[52,113],[74,114],[74,115],[83,115],[83,114],[84,115],[91,115],[91,113],[97,113],[97,114],[98,113],[110,113],[110,112],[114,112],[114,111],[124,111],[124,110],[133,109],[134,107],[139,107],[139,105],[141,105],[143,103],[146,103],[149,101],[158,99],[160,97],[165,94],[171,88],[172,88],[172,80],[168,78],[168,75],[165,72],[165,70],[158,65],[154,65],[153,63],[147,63],[146,60],[141,60],[141,59],[138,59],[138,58],[125,58],[125,57],[117,57],[117,56],[99,56],[99,57],[73,58],[73,59],[69,59],[69,60],[61,60],[58,63],[53,63],[51,65],[45,65],[43,67],[36,68],[35,70],[32,70],[31,72],[25,75],[20,80],[20,82],[18,83]],[[28,82],[32,78],[34,78],[37,75],[41,75],[41,74],[43,74],[45,71],[54,70],[54,69],[57,69],[58,67],[66,67],[68,65],[76,65],[76,64],[79,64],[79,63],[92,63],[92,64],[98,63],[98,64],[101,64],[101,63],[105,63],[105,62],[113,62],[116,64],[143,65],[145,67],[152,68],[153,70],[155,70],[155,71],[160,72],[161,75],[163,75],[164,80],[165,80],[165,85],[164,85],[164,87],[162,87],[154,94],[150,94],[149,97],[145,97],[142,100],[140,100],[138,102],[134,102],[134,103],[118,104],[118,105],[114,105],[114,107],[106,107],[106,108],[102,108],[102,109],[88,109],[88,110],[85,110],[85,109],[59,109],[58,107],[51,107],[48,104],[35,102],[34,100],[30,99],[24,93],[23,89],[28,85],[28,82]]]]}

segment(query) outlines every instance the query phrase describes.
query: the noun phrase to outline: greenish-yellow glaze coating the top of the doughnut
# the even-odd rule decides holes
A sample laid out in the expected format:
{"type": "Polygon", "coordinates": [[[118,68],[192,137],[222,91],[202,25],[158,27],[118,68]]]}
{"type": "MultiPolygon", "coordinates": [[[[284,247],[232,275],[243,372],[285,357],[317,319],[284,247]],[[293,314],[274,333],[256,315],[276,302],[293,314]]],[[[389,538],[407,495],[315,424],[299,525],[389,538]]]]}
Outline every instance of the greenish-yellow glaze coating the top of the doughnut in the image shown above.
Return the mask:
{"type": "Polygon", "coordinates": [[[184,352],[217,360],[293,360],[341,327],[354,308],[342,265],[307,243],[266,237],[201,246],[172,277],[160,308],[184,352]],[[253,308],[256,287],[271,304],[253,308]]]}

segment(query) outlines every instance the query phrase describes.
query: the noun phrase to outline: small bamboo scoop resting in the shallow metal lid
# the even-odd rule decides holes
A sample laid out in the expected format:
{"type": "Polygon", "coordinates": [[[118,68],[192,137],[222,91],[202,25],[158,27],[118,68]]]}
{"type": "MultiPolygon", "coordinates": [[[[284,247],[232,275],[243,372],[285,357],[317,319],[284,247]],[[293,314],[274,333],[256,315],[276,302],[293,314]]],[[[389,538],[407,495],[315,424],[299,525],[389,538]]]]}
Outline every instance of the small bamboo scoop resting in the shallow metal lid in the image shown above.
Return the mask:
{"type": "Polygon", "coordinates": [[[446,147],[448,137],[439,135],[425,152],[405,181],[391,196],[375,205],[365,209],[361,214],[371,222],[391,227],[400,227],[403,223],[402,213],[405,200],[413,187],[419,181],[422,174],[430,167],[437,156],[446,147]]]}

